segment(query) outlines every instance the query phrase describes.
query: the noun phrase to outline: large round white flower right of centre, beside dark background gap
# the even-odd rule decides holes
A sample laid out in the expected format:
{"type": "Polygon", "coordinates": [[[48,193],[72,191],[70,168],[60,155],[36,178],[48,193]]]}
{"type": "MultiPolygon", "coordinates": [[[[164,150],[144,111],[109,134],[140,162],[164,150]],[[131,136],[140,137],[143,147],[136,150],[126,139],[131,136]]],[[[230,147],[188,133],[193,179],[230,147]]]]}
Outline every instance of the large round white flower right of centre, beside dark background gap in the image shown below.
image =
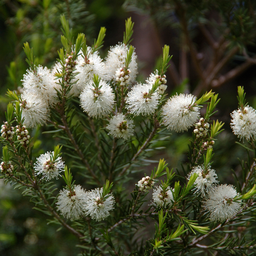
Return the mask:
{"type": "Polygon", "coordinates": [[[193,106],[196,96],[191,94],[176,94],[162,108],[163,123],[169,130],[187,131],[199,118],[199,107],[193,106]]]}

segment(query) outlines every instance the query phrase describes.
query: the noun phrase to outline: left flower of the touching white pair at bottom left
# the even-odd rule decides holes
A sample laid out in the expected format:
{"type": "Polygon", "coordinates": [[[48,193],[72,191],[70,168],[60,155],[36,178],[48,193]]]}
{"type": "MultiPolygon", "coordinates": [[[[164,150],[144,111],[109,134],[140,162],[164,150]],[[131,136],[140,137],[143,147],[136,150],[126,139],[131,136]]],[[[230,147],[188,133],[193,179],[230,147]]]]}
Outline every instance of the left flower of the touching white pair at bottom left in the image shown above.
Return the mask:
{"type": "Polygon", "coordinates": [[[72,191],[66,188],[62,189],[56,204],[65,218],[78,220],[84,214],[83,207],[86,201],[86,192],[80,185],[75,185],[72,191]]]}

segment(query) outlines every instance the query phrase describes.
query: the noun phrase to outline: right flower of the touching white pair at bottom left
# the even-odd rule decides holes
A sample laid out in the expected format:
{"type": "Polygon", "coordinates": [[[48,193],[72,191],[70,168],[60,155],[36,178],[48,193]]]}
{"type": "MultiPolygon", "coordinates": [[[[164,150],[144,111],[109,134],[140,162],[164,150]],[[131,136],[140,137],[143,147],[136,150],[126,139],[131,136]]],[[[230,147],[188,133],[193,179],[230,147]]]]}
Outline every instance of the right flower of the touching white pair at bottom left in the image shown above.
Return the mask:
{"type": "Polygon", "coordinates": [[[95,188],[87,192],[87,200],[84,203],[86,215],[90,215],[93,220],[101,221],[110,215],[110,210],[114,209],[114,197],[109,194],[108,197],[101,199],[103,188],[95,188]]]}

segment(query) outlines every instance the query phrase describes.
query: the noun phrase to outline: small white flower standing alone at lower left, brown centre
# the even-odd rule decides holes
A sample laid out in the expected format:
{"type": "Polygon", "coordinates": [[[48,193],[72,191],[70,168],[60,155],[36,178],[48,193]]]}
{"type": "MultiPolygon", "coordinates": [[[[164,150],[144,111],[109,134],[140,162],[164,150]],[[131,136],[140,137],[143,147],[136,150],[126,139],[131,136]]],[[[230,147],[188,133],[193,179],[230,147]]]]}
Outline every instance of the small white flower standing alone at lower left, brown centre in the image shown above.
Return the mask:
{"type": "Polygon", "coordinates": [[[42,174],[41,179],[46,179],[47,181],[61,176],[61,172],[64,171],[65,164],[61,160],[61,157],[57,157],[53,160],[54,152],[47,152],[44,155],[40,155],[36,159],[36,163],[34,165],[34,169],[36,171],[36,176],[42,174]]]}

